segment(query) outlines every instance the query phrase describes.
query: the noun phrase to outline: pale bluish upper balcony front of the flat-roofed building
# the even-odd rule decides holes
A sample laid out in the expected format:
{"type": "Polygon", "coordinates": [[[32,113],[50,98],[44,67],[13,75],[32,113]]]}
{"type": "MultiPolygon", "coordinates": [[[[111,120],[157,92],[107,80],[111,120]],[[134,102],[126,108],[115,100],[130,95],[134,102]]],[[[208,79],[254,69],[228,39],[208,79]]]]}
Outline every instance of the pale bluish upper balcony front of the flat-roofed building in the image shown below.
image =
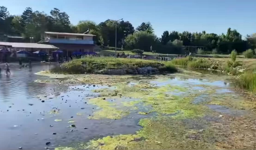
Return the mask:
{"type": "Polygon", "coordinates": [[[58,44],[94,44],[92,40],[49,39],[48,42],[58,44]]]}

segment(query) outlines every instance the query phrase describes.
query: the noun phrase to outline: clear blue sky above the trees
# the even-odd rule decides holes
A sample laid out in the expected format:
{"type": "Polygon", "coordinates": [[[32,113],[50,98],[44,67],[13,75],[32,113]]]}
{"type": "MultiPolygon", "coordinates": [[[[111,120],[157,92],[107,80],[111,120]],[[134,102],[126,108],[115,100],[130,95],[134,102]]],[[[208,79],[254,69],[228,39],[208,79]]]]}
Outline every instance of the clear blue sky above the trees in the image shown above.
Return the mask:
{"type": "Polygon", "coordinates": [[[230,27],[243,36],[256,32],[256,0],[0,0],[0,6],[15,15],[26,7],[47,14],[58,8],[72,24],[124,18],[136,28],[149,21],[158,37],[165,30],[221,34],[230,27]]]}

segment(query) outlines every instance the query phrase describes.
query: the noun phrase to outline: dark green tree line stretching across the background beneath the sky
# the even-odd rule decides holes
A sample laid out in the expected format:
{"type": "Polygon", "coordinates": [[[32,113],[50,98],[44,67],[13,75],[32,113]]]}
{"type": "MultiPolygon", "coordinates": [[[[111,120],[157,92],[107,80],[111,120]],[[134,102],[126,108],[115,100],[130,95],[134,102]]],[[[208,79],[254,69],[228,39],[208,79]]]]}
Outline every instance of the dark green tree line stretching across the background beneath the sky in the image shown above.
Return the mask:
{"type": "MultiPolygon", "coordinates": [[[[141,49],[144,51],[179,54],[184,47],[201,46],[205,51],[230,53],[232,50],[243,52],[249,48],[256,48],[256,34],[242,39],[242,35],[228,28],[226,34],[202,32],[177,32],[167,30],[158,38],[150,22],[142,22],[134,28],[129,21],[115,22],[105,20],[96,24],[91,20],[82,20],[78,24],[70,23],[66,12],[54,8],[50,15],[45,12],[34,11],[28,7],[22,15],[11,15],[8,9],[0,6],[0,40],[7,35],[23,36],[25,39],[34,38],[34,42],[43,39],[45,31],[84,33],[96,35],[94,41],[101,46],[115,46],[115,28],[117,27],[117,46],[124,49],[141,49]],[[182,48],[183,46],[183,48],[182,48]]],[[[191,49],[190,49],[191,50],[191,49]]]]}

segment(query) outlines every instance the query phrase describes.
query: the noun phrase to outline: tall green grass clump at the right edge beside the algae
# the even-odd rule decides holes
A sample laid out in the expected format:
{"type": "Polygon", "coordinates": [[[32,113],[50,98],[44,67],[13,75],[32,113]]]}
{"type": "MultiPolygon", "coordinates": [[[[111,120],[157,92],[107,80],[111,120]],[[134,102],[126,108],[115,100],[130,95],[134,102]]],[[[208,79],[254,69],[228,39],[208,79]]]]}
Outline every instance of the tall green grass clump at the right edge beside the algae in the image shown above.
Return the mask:
{"type": "Polygon", "coordinates": [[[235,82],[236,86],[242,89],[256,92],[256,74],[252,71],[240,75],[235,82]]]}

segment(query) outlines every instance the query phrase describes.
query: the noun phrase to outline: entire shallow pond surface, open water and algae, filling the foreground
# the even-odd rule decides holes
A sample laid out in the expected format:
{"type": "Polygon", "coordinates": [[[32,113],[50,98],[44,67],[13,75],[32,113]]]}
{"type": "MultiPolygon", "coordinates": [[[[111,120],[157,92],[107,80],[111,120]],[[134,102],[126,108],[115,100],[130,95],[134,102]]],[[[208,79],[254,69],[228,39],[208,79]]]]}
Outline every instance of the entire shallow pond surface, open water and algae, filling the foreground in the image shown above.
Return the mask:
{"type": "Polygon", "coordinates": [[[254,105],[228,76],[34,74],[50,67],[1,76],[0,149],[252,148],[256,140],[254,105]]]}

